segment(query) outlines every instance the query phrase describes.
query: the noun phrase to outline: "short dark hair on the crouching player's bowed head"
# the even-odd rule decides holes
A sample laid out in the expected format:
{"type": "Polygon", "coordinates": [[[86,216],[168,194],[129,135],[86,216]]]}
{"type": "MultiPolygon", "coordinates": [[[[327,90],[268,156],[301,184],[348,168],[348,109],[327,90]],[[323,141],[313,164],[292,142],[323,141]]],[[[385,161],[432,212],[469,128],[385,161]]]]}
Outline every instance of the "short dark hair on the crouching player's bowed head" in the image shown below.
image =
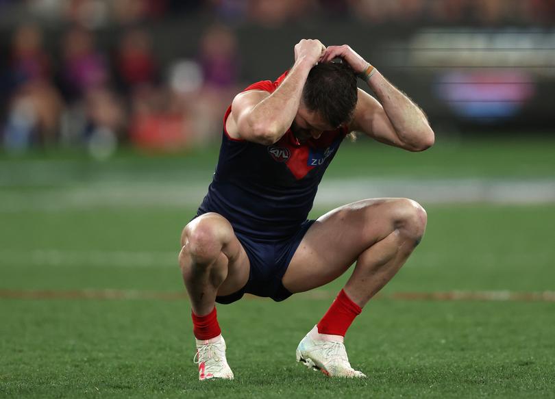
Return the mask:
{"type": "Polygon", "coordinates": [[[334,128],[353,118],[357,98],[356,75],[346,62],[318,64],[304,83],[304,105],[319,112],[334,128]]]}

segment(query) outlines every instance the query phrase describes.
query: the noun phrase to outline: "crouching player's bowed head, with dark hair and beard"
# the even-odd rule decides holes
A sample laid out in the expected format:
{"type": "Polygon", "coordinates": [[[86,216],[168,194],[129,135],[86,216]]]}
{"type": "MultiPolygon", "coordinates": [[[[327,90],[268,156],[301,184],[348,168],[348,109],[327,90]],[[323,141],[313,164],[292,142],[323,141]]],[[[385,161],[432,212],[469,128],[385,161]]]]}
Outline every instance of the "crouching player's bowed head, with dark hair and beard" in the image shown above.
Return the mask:
{"type": "Polygon", "coordinates": [[[345,62],[325,62],[310,70],[293,132],[299,139],[349,123],[356,107],[356,75],[345,62]]]}

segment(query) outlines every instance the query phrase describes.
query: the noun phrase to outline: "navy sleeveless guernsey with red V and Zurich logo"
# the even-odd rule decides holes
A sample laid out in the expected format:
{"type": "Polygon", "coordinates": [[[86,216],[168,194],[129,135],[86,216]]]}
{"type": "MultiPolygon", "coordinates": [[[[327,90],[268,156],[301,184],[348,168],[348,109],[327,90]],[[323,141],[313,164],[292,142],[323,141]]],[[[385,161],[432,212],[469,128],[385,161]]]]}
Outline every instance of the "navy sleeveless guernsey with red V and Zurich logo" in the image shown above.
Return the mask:
{"type": "MultiPolygon", "coordinates": [[[[259,81],[247,90],[273,92],[285,79],[259,81]]],[[[299,143],[291,129],[275,144],[266,146],[231,138],[225,130],[214,179],[197,216],[216,212],[234,231],[269,242],[295,235],[306,221],[323,174],[346,128],[324,131],[320,138],[299,143]]]]}

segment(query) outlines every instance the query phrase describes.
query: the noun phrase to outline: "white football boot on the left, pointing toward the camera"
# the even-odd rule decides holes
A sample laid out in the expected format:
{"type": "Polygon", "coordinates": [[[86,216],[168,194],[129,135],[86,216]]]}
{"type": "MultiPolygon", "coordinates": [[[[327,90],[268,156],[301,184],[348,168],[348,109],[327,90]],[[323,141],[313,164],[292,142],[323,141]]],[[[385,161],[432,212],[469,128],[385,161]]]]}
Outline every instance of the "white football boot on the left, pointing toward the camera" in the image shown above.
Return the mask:
{"type": "Polygon", "coordinates": [[[233,379],[233,372],[225,358],[225,341],[218,335],[212,339],[197,341],[197,355],[193,361],[199,365],[199,380],[212,378],[233,379]]]}

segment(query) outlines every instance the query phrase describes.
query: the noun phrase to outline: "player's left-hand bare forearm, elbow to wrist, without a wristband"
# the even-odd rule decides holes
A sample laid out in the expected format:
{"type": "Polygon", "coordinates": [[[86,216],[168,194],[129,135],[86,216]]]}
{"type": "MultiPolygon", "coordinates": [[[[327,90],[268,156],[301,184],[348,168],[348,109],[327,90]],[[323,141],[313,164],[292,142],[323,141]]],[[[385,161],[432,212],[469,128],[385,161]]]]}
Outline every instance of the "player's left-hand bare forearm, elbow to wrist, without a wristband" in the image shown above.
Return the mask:
{"type": "Polygon", "coordinates": [[[304,59],[297,60],[275,92],[260,101],[251,111],[252,122],[264,126],[270,141],[277,142],[291,127],[311,68],[312,63],[304,59]]]}

